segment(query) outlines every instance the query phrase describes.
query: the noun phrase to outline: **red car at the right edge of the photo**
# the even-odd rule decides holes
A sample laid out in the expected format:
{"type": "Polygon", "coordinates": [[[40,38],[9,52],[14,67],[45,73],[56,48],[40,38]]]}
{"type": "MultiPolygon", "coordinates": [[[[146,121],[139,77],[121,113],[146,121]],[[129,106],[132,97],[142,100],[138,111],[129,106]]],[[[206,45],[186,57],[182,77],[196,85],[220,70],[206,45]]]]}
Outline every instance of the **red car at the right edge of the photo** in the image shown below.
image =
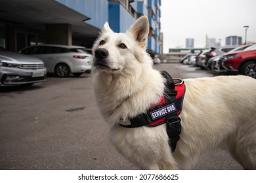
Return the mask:
{"type": "Polygon", "coordinates": [[[224,54],[220,61],[226,71],[256,78],[256,44],[244,51],[224,54]]]}

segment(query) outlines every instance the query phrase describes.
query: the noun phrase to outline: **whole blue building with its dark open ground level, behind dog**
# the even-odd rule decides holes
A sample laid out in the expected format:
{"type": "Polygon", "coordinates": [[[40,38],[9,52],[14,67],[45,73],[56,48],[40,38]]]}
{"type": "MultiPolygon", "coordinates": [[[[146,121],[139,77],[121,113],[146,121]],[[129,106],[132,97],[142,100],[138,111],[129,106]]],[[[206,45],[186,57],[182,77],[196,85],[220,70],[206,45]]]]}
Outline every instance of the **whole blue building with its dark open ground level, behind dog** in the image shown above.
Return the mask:
{"type": "Polygon", "coordinates": [[[161,0],[0,0],[0,46],[18,50],[33,44],[91,48],[105,22],[125,32],[148,16],[148,52],[162,51],[161,0]]]}

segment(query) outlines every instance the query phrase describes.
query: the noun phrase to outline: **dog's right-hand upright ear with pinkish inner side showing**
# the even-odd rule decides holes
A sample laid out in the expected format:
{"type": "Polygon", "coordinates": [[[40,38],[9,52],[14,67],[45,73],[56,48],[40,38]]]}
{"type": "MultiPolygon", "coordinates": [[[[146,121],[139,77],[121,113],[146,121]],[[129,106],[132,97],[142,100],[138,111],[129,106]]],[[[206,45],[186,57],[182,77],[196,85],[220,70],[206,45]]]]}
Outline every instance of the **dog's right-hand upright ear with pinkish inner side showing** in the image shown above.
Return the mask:
{"type": "Polygon", "coordinates": [[[140,16],[127,32],[133,35],[141,48],[145,48],[149,33],[148,17],[140,16]]]}

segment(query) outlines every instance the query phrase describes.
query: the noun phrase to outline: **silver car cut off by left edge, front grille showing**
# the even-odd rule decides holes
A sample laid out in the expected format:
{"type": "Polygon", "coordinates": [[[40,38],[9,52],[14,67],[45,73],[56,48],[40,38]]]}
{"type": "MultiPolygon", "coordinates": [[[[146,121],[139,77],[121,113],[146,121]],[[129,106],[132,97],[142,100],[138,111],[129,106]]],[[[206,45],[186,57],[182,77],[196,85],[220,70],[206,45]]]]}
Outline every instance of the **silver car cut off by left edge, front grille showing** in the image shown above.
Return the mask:
{"type": "Polygon", "coordinates": [[[41,59],[0,51],[0,86],[32,85],[45,82],[46,68],[41,59]]]}

